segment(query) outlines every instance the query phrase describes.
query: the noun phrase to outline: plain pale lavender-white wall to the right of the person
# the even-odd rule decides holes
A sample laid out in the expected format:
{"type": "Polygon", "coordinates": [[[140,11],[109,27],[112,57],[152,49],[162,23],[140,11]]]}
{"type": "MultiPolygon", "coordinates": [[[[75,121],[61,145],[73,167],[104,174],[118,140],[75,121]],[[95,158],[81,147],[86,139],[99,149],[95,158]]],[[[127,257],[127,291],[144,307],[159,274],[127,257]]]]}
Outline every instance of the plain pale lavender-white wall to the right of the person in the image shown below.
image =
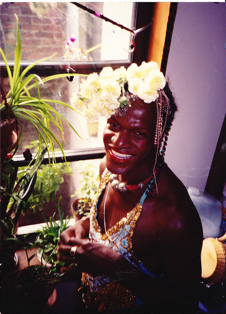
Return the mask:
{"type": "Polygon", "coordinates": [[[225,47],[225,3],[178,3],[166,71],[178,113],[165,160],[201,191],[226,112],[225,47]]]}

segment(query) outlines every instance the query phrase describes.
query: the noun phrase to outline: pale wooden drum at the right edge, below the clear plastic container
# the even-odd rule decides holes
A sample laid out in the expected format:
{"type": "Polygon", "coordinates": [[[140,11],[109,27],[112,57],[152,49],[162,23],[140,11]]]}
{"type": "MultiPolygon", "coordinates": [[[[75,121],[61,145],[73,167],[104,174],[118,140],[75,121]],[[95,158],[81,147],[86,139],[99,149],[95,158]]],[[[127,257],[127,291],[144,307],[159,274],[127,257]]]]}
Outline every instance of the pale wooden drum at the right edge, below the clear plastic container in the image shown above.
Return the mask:
{"type": "Polygon", "coordinates": [[[221,238],[206,238],[201,251],[202,279],[216,284],[226,278],[226,234],[221,238]]]}

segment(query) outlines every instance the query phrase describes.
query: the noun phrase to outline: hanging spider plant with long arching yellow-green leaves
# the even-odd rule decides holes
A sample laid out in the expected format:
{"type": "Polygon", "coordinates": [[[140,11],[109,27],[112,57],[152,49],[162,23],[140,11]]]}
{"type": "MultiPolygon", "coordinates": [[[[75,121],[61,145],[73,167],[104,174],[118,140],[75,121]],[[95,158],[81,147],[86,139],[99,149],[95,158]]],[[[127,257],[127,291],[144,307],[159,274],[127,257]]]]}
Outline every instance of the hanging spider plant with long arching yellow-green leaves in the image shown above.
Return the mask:
{"type": "Polygon", "coordinates": [[[78,133],[76,132],[74,127],[59,112],[57,112],[51,106],[51,104],[56,103],[61,106],[67,107],[71,110],[74,110],[74,109],[62,101],[42,98],[40,95],[39,86],[40,84],[44,84],[45,82],[48,82],[53,79],[65,78],[68,76],[75,76],[75,75],[81,76],[82,74],[68,74],[68,73],[57,74],[57,75],[48,76],[43,79],[41,79],[36,74],[28,74],[37,63],[44,62],[45,60],[53,56],[45,57],[43,59],[37,60],[36,62],[27,66],[22,71],[22,73],[20,73],[21,41],[20,41],[19,20],[17,16],[16,16],[16,20],[17,20],[17,30],[16,30],[16,46],[15,46],[13,73],[11,72],[7,59],[1,49],[1,55],[7,69],[9,85],[10,85],[10,89],[8,93],[5,93],[1,86],[1,96],[3,99],[1,102],[1,107],[0,107],[1,115],[2,116],[4,115],[7,116],[9,114],[13,115],[17,120],[17,125],[18,125],[18,120],[21,121],[21,130],[20,130],[19,140],[18,140],[16,148],[14,149],[13,155],[16,153],[21,142],[22,133],[23,133],[22,118],[24,118],[29,123],[31,123],[31,125],[35,128],[35,130],[37,131],[38,139],[39,139],[38,151],[34,158],[37,158],[41,154],[41,151],[42,151],[41,146],[42,146],[42,143],[44,143],[45,146],[47,147],[49,163],[50,163],[50,154],[49,154],[50,150],[52,151],[53,162],[54,162],[54,141],[59,146],[59,149],[61,150],[62,155],[65,158],[65,154],[63,151],[64,133],[63,133],[62,121],[64,120],[77,135],[78,133]],[[37,97],[31,96],[30,94],[31,90],[36,91],[37,97]],[[59,129],[62,136],[61,143],[57,139],[55,134],[49,129],[50,124],[55,125],[59,129]]]}

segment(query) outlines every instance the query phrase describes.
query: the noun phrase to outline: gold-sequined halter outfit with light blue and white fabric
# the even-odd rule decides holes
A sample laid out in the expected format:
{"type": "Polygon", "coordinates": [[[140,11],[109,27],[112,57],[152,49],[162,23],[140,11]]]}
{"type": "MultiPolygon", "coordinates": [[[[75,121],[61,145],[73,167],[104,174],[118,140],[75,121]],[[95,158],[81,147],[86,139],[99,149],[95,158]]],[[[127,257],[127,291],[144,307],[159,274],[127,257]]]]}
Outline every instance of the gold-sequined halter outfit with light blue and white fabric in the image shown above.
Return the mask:
{"type": "MultiPolygon", "coordinates": [[[[97,204],[99,197],[104,191],[109,179],[109,174],[105,176],[98,195],[93,203],[90,211],[90,234],[89,238],[92,242],[98,242],[113,251],[121,254],[136,268],[153,278],[161,278],[150,273],[144,267],[143,263],[135,256],[132,248],[133,231],[136,222],[142,210],[142,204],[137,203],[136,206],[127,213],[127,217],[122,218],[115,226],[107,230],[107,235],[102,234],[101,228],[97,221],[97,204]]],[[[145,198],[141,198],[142,203],[145,198]]],[[[123,277],[123,274],[120,274],[123,277]]],[[[96,310],[101,312],[119,308],[135,308],[136,297],[126,288],[120,285],[118,280],[110,279],[108,276],[102,275],[93,278],[90,274],[83,273],[82,283],[86,286],[88,293],[85,295],[85,301],[88,305],[96,305],[96,310]]]]}

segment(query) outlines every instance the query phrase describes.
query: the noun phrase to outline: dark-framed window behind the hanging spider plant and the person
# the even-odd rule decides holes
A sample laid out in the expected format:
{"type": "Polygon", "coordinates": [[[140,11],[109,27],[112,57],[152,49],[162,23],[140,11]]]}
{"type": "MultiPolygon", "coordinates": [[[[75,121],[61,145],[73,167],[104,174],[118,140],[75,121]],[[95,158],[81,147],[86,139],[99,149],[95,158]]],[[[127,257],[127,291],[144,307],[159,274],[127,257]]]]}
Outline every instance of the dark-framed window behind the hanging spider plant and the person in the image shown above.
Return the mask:
{"type": "MultiPolygon", "coordinates": [[[[111,3],[81,3],[96,12],[102,13],[109,19],[116,21],[128,29],[135,28],[137,3],[111,2],[111,3]]],[[[41,78],[52,74],[65,73],[67,68],[72,68],[76,73],[99,72],[104,66],[118,68],[127,67],[132,62],[133,54],[130,50],[131,33],[110,22],[78,8],[72,3],[3,3],[1,4],[1,48],[9,65],[13,68],[14,50],[16,43],[16,17],[19,19],[21,37],[21,68],[28,64],[48,57],[53,57],[41,62],[32,70],[41,78]]],[[[40,92],[46,98],[55,98],[70,104],[73,92],[79,91],[81,78],[74,78],[69,82],[66,78],[57,79],[41,86],[40,92]]],[[[4,62],[1,60],[1,84],[5,93],[8,92],[8,78],[4,62]]],[[[66,110],[57,104],[53,105],[75,127],[81,138],[65,124],[64,125],[64,150],[67,160],[91,159],[87,163],[97,166],[104,156],[102,133],[105,119],[96,122],[87,122],[79,114],[66,110]],[[95,158],[95,160],[93,160],[95,158]]],[[[56,132],[56,130],[55,130],[56,132]]],[[[60,137],[60,134],[59,134],[60,137]]],[[[24,123],[22,144],[15,158],[19,165],[23,162],[22,152],[30,147],[31,142],[37,140],[35,130],[28,123],[24,123]]],[[[34,152],[36,144],[30,147],[34,152]]],[[[61,157],[61,154],[60,154],[61,157]]],[[[57,161],[60,161],[59,158],[57,161]]],[[[85,166],[85,165],[84,165],[85,166]]],[[[55,203],[62,195],[62,208],[65,216],[71,214],[71,194],[78,189],[81,176],[74,170],[74,175],[64,175],[64,183],[57,192],[55,203]]],[[[55,205],[47,204],[44,214],[48,219],[56,211],[55,205]]],[[[43,222],[42,214],[36,217],[26,213],[20,219],[20,225],[43,222]],[[27,219],[25,219],[27,217],[27,219]],[[38,218],[39,217],[39,218],[38,218]]]]}

